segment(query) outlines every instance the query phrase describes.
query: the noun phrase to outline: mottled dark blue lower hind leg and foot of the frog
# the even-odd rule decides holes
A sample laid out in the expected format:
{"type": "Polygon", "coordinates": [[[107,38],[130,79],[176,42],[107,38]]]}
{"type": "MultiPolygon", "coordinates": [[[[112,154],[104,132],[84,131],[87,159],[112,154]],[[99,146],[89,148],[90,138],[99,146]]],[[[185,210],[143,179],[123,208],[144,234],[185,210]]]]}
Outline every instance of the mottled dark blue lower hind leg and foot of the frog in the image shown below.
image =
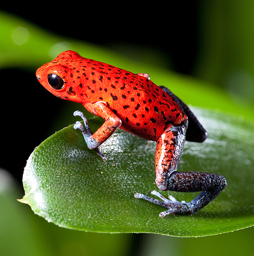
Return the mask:
{"type": "Polygon", "coordinates": [[[208,205],[217,195],[226,187],[226,179],[218,174],[204,172],[175,172],[168,179],[167,190],[176,192],[197,192],[202,191],[189,203],[178,202],[171,197],[166,199],[160,193],[152,191],[163,201],[148,197],[144,194],[136,193],[135,198],[148,200],[154,204],[168,208],[167,211],[161,212],[160,217],[168,214],[193,214],[204,206],[208,205]]]}

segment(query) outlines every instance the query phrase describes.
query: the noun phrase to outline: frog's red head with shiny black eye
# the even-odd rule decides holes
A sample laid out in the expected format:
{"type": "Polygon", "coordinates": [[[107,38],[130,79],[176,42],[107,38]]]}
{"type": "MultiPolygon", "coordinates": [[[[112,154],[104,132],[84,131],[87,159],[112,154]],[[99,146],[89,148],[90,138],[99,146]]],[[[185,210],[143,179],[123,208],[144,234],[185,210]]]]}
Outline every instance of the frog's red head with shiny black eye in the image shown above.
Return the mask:
{"type": "Polygon", "coordinates": [[[41,66],[36,71],[38,81],[58,98],[79,102],[78,91],[82,84],[82,76],[76,71],[76,65],[82,58],[75,51],[64,51],[51,62],[41,66]]]}

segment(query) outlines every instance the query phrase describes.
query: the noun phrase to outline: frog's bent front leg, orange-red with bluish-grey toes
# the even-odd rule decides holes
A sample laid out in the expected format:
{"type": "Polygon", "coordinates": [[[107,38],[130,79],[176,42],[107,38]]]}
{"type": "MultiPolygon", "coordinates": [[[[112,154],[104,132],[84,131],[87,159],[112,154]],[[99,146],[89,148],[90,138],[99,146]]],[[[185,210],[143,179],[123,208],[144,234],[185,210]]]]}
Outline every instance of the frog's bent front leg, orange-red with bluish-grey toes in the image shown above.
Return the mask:
{"type": "Polygon", "coordinates": [[[87,104],[85,107],[93,114],[104,118],[104,124],[95,133],[92,133],[84,114],[80,111],[75,111],[73,115],[80,116],[84,121],[85,127],[77,121],[73,128],[80,129],[88,148],[94,149],[95,152],[106,161],[106,158],[100,152],[99,146],[111,137],[117,128],[122,125],[122,121],[106,104],[104,104],[104,102],[87,104]]]}

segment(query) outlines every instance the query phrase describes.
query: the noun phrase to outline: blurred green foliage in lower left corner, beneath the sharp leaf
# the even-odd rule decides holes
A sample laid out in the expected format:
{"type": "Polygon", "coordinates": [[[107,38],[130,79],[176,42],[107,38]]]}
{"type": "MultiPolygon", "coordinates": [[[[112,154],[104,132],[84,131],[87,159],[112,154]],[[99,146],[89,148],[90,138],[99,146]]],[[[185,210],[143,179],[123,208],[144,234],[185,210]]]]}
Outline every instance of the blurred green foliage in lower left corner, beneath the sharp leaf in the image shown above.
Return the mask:
{"type": "Polygon", "coordinates": [[[17,202],[23,194],[19,188],[10,174],[0,168],[0,255],[129,255],[132,234],[110,235],[59,228],[17,202]]]}

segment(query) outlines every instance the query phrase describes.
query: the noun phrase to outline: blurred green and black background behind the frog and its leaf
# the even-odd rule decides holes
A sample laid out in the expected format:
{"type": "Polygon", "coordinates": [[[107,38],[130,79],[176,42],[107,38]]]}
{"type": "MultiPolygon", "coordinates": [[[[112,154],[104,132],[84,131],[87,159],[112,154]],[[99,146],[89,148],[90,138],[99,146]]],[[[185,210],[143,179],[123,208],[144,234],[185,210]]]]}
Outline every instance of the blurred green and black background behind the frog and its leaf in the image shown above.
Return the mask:
{"type": "Polygon", "coordinates": [[[254,255],[253,227],[201,238],[85,233],[47,223],[16,201],[24,194],[23,167],[30,153],[74,123],[72,112],[80,109],[37,82],[39,66],[71,49],[132,72],[148,72],[187,104],[253,121],[253,28],[250,0],[2,7],[1,255],[254,255]]]}

